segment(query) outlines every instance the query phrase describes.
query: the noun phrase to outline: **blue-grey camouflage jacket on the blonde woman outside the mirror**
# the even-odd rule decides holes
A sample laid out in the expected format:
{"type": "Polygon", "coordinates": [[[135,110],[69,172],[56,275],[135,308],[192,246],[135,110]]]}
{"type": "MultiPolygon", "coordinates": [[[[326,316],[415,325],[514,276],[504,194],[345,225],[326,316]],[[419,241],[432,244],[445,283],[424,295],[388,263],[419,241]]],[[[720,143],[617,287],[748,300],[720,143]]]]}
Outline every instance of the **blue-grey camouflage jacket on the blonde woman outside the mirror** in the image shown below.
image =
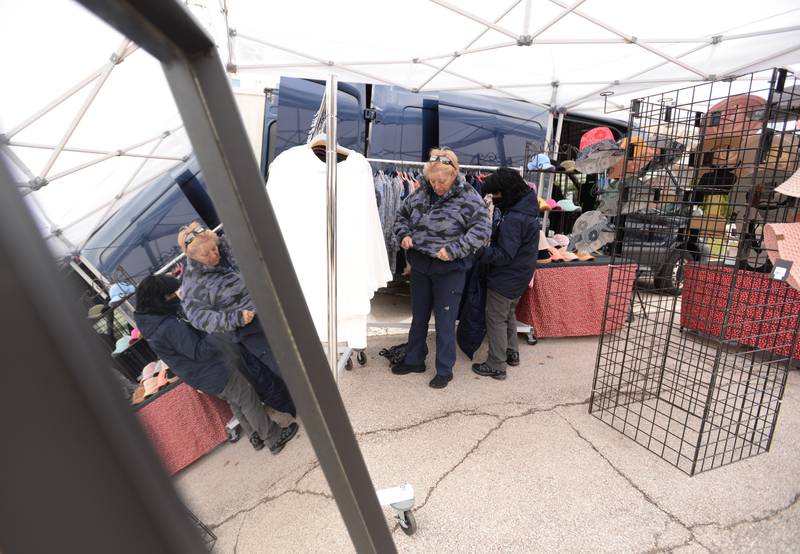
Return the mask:
{"type": "Polygon", "coordinates": [[[394,233],[398,243],[410,235],[414,250],[427,256],[435,258],[444,248],[451,260],[467,258],[491,236],[489,212],[461,175],[447,194],[435,200],[430,183],[424,180],[403,202],[394,233]]]}

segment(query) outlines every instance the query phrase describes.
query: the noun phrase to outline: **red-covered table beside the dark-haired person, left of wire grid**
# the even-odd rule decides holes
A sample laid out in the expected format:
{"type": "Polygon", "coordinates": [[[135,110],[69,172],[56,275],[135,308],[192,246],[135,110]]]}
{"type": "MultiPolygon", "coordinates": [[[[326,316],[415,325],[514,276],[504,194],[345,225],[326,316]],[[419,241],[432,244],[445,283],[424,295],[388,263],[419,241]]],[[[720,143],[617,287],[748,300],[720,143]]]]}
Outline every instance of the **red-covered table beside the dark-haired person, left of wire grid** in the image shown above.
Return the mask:
{"type": "Polygon", "coordinates": [[[517,320],[531,325],[538,338],[599,336],[605,319],[609,272],[613,271],[606,332],[622,328],[630,312],[636,265],[551,262],[536,267],[533,287],[517,305],[517,320]]]}

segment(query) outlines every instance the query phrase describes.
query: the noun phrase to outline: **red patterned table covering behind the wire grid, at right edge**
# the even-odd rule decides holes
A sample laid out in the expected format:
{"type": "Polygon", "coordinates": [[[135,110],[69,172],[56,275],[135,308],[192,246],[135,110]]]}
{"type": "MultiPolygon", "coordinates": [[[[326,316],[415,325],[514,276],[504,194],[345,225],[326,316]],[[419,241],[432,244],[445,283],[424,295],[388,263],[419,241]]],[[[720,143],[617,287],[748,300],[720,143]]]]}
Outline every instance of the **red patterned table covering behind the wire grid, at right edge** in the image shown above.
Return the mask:
{"type": "MultiPolygon", "coordinates": [[[[738,271],[736,287],[731,290],[733,272],[733,268],[720,265],[686,265],[681,327],[788,355],[800,315],[800,292],[766,273],[745,270],[738,271]]],[[[792,357],[800,359],[800,343],[795,345],[792,357]]]]}

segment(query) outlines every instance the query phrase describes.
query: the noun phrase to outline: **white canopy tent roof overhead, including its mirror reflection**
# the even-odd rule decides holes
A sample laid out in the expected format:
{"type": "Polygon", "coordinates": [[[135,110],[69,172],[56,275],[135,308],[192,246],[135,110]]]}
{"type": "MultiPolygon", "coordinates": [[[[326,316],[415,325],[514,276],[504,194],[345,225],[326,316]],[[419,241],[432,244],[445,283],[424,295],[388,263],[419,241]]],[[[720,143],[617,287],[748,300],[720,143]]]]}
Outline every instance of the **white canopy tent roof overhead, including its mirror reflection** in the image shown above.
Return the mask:
{"type": "MultiPolygon", "coordinates": [[[[0,150],[53,250],[75,252],[191,146],[160,66],[125,37],[69,0],[0,5],[0,150]]],[[[683,84],[800,69],[796,0],[187,5],[234,86],[255,90],[283,75],[334,73],[602,114],[683,84]]]]}

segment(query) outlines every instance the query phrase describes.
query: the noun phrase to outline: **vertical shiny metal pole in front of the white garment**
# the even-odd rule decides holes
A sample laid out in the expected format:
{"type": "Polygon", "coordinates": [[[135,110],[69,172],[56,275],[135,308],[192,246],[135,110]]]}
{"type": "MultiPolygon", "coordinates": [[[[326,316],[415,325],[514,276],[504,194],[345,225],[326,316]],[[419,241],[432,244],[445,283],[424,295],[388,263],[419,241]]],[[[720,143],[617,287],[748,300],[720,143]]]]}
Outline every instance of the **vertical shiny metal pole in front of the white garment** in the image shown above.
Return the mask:
{"type": "Polygon", "coordinates": [[[336,313],[336,97],[338,95],[336,75],[329,75],[325,87],[325,110],[327,118],[327,143],[325,145],[325,165],[327,171],[328,207],[328,363],[336,382],[339,382],[336,313]]]}

